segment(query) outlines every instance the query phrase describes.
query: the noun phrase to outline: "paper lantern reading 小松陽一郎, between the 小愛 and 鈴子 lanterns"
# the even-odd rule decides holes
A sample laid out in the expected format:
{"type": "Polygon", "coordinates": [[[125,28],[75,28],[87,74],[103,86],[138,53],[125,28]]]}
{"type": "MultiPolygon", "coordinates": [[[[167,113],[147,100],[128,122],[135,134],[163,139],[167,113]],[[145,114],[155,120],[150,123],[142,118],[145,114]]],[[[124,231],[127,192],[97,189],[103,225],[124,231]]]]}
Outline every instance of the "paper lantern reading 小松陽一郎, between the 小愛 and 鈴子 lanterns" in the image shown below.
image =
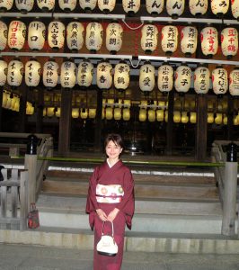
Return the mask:
{"type": "Polygon", "coordinates": [[[173,67],[169,65],[158,67],[157,86],[163,93],[168,93],[173,89],[173,67]]]}

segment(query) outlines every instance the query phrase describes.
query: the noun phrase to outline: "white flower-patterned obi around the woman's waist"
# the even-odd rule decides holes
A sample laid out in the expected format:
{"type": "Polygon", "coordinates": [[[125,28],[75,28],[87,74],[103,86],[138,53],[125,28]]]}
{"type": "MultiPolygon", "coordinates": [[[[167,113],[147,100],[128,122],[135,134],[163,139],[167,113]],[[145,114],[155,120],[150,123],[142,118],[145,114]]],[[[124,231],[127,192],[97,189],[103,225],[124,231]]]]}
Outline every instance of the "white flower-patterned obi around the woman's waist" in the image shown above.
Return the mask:
{"type": "Polygon", "coordinates": [[[124,190],[120,184],[97,184],[96,201],[105,203],[118,203],[122,201],[124,190]]]}

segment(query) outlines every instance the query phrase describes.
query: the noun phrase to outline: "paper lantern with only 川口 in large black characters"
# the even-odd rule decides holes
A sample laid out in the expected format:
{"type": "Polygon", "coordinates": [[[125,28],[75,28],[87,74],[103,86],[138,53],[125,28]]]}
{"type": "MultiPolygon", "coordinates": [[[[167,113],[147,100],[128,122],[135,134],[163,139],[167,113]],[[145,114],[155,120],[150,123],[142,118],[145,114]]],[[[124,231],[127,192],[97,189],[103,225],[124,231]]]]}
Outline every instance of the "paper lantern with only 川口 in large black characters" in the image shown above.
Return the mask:
{"type": "Polygon", "coordinates": [[[28,46],[33,50],[43,49],[46,40],[46,26],[44,23],[34,21],[28,27],[28,46]]]}

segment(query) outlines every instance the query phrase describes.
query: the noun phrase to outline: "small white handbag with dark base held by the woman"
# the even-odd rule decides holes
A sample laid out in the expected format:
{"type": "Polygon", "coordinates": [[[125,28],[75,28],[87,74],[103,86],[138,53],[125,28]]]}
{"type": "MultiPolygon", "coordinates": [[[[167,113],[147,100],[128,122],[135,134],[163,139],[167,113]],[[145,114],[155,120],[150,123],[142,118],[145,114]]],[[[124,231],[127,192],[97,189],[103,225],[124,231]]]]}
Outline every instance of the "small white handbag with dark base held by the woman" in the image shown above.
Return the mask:
{"type": "MultiPolygon", "coordinates": [[[[109,221],[110,222],[110,221],[109,221]]],[[[102,224],[102,238],[98,242],[96,246],[96,250],[99,254],[105,256],[116,256],[118,253],[118,246],[114,240],[114,226],[113,222],[111,222],[112,233],[111,235],[104,235],[103,228],[104,228],[104,221],[102,224]]]]}

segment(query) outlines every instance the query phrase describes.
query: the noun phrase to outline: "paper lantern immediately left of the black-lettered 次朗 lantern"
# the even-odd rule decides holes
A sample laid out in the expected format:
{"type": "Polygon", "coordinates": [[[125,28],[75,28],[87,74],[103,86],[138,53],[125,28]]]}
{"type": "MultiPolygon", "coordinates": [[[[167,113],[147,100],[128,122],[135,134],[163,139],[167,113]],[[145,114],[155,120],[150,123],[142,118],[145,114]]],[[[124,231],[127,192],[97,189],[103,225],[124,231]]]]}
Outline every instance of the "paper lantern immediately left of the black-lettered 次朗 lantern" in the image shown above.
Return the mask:
{"type": "Polygon", "coordinates": [[[102,48],[103,28],[101,23],[88,23],[86,27],[85,46],[95,53],[102,48]]]}

